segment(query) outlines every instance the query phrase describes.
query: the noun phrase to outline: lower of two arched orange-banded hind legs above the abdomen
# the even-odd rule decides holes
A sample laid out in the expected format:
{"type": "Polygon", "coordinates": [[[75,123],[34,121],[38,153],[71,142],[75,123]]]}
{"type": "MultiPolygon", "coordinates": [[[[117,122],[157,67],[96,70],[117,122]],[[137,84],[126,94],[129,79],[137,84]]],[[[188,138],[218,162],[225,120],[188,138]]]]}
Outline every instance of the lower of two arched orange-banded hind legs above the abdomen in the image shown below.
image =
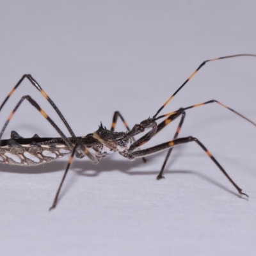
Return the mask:
{"type": "MultiPolygon", "coordinates": [[[[68,147],[70,148],[70,150],[73,150],[73,145],[72,143],[68,140],[68,138],[65,136],[65,134],[63,134],[63,132],[61,131],[61,129],[58,127],[58,125],[56,125],[54,123],[54,121],[47,115],[47,113],[45,113],[45,111],[40,108],[40,106],[35,102],[35,100],[33,100],[29,95],[23,96],[18,104],[15,106],[15,108],[13,109],[12,113],[10,114],[10,116],[8,117],[8,119],[6,120],[3,129],[0,132],[0,140],[1,140],[1,136],[3,135],[4,130],[6,129],[7,125],[9,124],[10,120],[12,119],[15,111],[17,111],[17,109],[19,108],[20,104],[24,101],[24,100],[28,100],[28,102],[35,107],[41,114],[42,116],[44,116],[44,118],[52,125],[52,127],[54,127],[54,129],[58,132],[58,134],[60,134],[61,138],[63,138],[63,140],[65,141],[65,143],[67,143],[68,147]]],[[[76,153],[76,156],[81,158],[81,154],[79,152],[76,153]]]]}

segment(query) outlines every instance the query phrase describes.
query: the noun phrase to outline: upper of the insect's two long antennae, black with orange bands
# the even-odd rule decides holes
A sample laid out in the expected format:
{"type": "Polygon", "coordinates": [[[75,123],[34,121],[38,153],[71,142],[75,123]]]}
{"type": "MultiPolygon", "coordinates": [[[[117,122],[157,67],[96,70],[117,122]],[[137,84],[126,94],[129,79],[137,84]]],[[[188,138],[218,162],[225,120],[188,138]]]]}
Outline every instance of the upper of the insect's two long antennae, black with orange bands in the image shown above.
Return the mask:
{"type": "Polygon", "coordinates": [[[163,106],[161,106],[161,108],[159,108],[157,110],[157,113],[153,116],[153,118],[156,118],[156,116],[159,114],[159,112],[173,99],[173,97],[182,89],[182,87],[186,83],[188,83],[188,81],[191,80],[193,76],[195,76],[195,74],[198,72],[198,70],[200,70],[200,68],[202,68],[205,65],[205,63],[210,62],[210,61],[223,60],[223,59],[228,59],[228,58],[236,58],[236,57],[241,57],[241,56],[256,57],[255,54],[236,54],[236,55],[224,56],[224,57],[220,57],[220,58],[203,61],[199,65],[199,67],[196,68],[196,70],[188,77],[188,79],[186,79],[186,81],[183,84],[181,84],[181,86],[173,93],[173,95],[168,100],[166,100],[166,102],[164,102],[163,106]]]}

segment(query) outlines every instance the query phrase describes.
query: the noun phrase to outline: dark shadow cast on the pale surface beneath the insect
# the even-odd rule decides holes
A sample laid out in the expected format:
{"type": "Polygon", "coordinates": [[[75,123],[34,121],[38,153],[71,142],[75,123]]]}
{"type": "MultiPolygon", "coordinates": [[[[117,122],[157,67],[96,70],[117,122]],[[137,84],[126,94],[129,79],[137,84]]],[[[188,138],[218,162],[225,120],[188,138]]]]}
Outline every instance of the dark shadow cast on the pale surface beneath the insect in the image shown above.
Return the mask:
{"type": "MultiPolygon", "coordinates": [[[[156,159],[157,156],[150,156],[147,157],[147,161],[151,162],[156,159]]],[[[179,154],[176,155],[176,157],[173,157],[172,163],[168,164],[168,167],[172,166],[173,162],[175,162],[179,158],[179,154]]],[[[122,172],[125,173],[125,175],[132,175],[132,176],[140,176],[140,175],[153,175],[156,177],[157,173],[159,173],[159,170],[147,170],[147,171],[138,171],[134,169],[140,169],[141,166],[144,165],[140,161],[140,159],[137,159],[136,161],[122,161],[122,160],[111,160],[109,158],[104,159],[104,168],[102,168],[102,164],[92,164],[90,161],[76,161],[72,164],[72,170],[76,172],[78,176],[84,176],[88,178],[93,178],[99,176],[101,173],[104,172],[122,172]],[[130,172],[132,170],[132,172],[130,172]]],[[[52,173],[52,172],[63,172],[63,166],[65,166],[66,161],[56,161],[51,164],[44,164],[39,166],[33,166],[31,168],[24,168],[22,166],[9,166],[6,164],[1,164],[1,166],[4,166],[4,168],[1,168],[0,172],[11,172],[11,173],[26,173],[26,174],[41,174],[41,173],[52,173]],[[49,168],[45,168],[45,166],[49,166],[49,168]]],[[[226,186],[223,186],[220,182],[217,182],[216,180],[212,179],[208,175],[205,175],[200,172],[196,172],[193,170],[166,170],[166,174],[168,174],[168,179],[172,179],[171,175],[195,175],[199,179],[205,180],[209,182],[210,184],[217,186],[218,188],[223,189],[223,191],[226,191],[232,195],[235,195],[239,198],[243,198],[245,200],[248,200],[248,198],[242,197],[240,195],[237,195],[237,193],[234,193],[231,189],[228,189],[226,186]]],[[[76,178],[75,178],[76,179],[76,178]]],[[[68,190],[72,187],[74,184],[74,177],[73,179],[68,180],[65,189],[63,189],[63,192],[61,193],[60,200],[65,194],[68,192],[68,190]]],[[[172,186],[172,183],[170,183],[170,186],[172,186]]]]}

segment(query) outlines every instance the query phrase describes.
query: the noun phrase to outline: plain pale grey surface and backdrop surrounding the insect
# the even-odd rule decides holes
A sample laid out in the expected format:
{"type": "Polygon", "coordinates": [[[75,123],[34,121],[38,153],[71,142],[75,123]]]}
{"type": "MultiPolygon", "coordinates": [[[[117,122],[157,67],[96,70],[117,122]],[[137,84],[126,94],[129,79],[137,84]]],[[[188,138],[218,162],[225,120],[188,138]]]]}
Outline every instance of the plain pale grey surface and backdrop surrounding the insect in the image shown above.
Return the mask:
{"type": "MultiPolygon", "coordinates": [[[[255,54],[255,8],[255,1],[234,0],[1,1],[1,100],[30,73],[77,135],[100,121],[109,127],[117,109],[132,126],[154,115],[203,60],[255,54]]],[[[253,58],[209,63],[163,113],[217,99],[256,121],[255,67],[253,58]]],[[[58,122],[26,82],[3,109],[1,125],[26,94],[58,122]]],[[[170,140],[175,125],[148,144],[170,140]]],[[[4,138],[13,129],[57,136],[28,103],[4,138]]],[[[1,165],[1,255],[255,255],[255,127],[212,104],[187,112],[180,136],[189,135],[250,200],[239,198],[193,143],[173,150],[161,181],[164,154],[147,164],[121,156],[97,166],[76,159],[52,212],[65,161],[1,165]]]]}

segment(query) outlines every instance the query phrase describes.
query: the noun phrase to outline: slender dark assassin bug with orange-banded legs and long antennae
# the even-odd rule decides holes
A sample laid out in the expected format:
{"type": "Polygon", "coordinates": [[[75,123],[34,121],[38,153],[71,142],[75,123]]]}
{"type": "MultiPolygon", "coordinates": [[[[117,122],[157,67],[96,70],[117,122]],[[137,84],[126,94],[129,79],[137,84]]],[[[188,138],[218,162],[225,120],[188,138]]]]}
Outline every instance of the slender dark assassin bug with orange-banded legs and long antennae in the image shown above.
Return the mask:
{"type": "Polygon", "coordinates": [[[211,158],[211,160],[216,164],[216,166],[218,166],[220,171],[227,177],[227,179],[231,182],[231,184],[237,189],[238,193],[240,195],[244,195],[248,197],[248,195],[242,192],[242,189],[239,188],[239,186],[237,186],[234,180],[232,180],[231,177],[228,175],[228,173],[223,169],[221,164],[218,163],[218,161],[212,156],[209,150],[207,150],[207,148],[205,148],[205,146],[197,138],[193,136],[178,138],[178,136],[179,136],[180,128],[182,127],[184,118],[186,116],[186,110],[191,108],[196,108],[199,106],[205,106],[206,104],[211,104],[211,103],[216,103],[222,106],[223,108],[229,109],[236,115],[239,115],[244,120],[256,126],[255,122],[252,122],[252,120],[241,115],[234,109],[231,109],[228,106],[225,106],[218,100],[209,100],[207,102],[195,104],[193,106],[188,106],[186,108],[180,108],[180,109],[177,109],[176,111],[172,111],[164,115],[159,115],[159,113],[163,110],[163,108],[173,99],[173,97],[175,97],[175,95],[184,87],[184,85],[188,83],[188,81],[191,80],[193,76],[195,76],[198,70],[200,70],[200,68],[202,68],[205,65],[205,63],[210,61],[228,59],[228,58],[237,58],[241,56],[256,57],[256,54],[236,54],[231,56],[224,56],[221,58],[210,59],[202,62],[199,65],[199,67],[196,68],[196,70],[188,77],[188,79],[186,79],[186,81],[173,93],[173,95],[168,100],[166,100],[163,106],[161,106],[161,108],[157,110],[156,114],[153,115],[152,118],[147,118],[143,120],[142,122],[140,122],[140,124],[134,125],[132,129],[129,128],[129,126],[124,120],[124,117],[120,114],[120,112],[115,111],[111,129],[107,129],[102,124],[100,124],[99,129],[97,129],[97,131],[93,133],[89,133],[86,136],[79,136],[79,137],[77,137],[74,134],[67,120],[61,114],[60,110],[57,108],[57,106],[54,104],[51,98],[47,95],[47,93],[45,93],[42,87],[36,82],[36,80],[31,75],[25,74],[20,78],[19,82],[8,94],[6,99],[4,99],[3,104],[1,104],[0,106],[0,111],[1,109],[3,109],[4,104],[6,104],[7,100],[10,99],[13,92],[15,92],[15,90],[22,83],[22,81],[24,79],[28,79],[31,82],[31,84],[35,86],[35,88],[51,104],[52,108],[56,111],[58,116],[60,116],[63,124],[65,124],[65,126],[67,127],[68,132],[70,133],[71,136],[69,137],[65,136],[65,134],[58,127],[58,125],[55,124],[55,122],[50,118],[49,115],[47,115],[47,113],[45,113],[45,111],[42,108],[40,108],[40,106],[36,103],[36,101],[33,100],[29,95],[24,95],[19,100],[15,108],[13,109],[12,113],[6,120],[3,129],[0,132],[0,163],[16,164],[20,166],[34,166],[38,164],[49,163],[67,154],[71,154],[67,164],[67,168],[65,170],[63,178],[61,179],[60,186],[58,187],[56,196],[54,197],[54,202],[51,208],[49,209],[51,210],[51,209],[54,209],[54,207],[56,207],[57,205],[58,196],[60,194],[61,187],[63,185],[65,177],[67,176],[68,169],[70,167],[70,164],[73,161],[74,156],[79,158],[83,158],[86,156],[94,164],[97,164],[99,163],[100,159],[102,159],[102,157],[106,157],[110,154],[118,152],[121,156],[129,160],[142,157],[143,161],[145,161],[146,156],[168,149],[161,171],[159,172],[159,175],[157,175],[157,179],[163,179],[164,167],[166,165],[166,162],[168,161],[168,158],[170,157],[172,148],[175,147],[176,145],[195,142],[198,144],[200,148],[202,148],[202,150],[204,150],[204,152],[207,154],[207,156],[211,158]],[[1,137],[3,136],[3,132],[6,129],[6,126],[12,119],[12,116],[14,115],[15,111],[17,111],[20,104],[22,104],[24,100],[28,100],[28,102],[33,107],[35,107],[39,111],[39,113],[41,113],[44,116],[44,118],[49,122],[49,124],[51,124],[52,127],[54,127],[54,129],[56,129],[56,131],[60,134],[60,138],[40,138],[37,134],[35,134],[32,138],[22,138],[22,136],[20,136],[17,132],[12,131],[11,138],[9,140],[1,140],[1,137]],[[158,132],[160,132],[164,127],[166,127],[168,124],[170,124],[173,120],[175,120],[179,116],[180,116],[180,122],[172,140],[169,140],[166,143],[156,145],[154,147],[140,150],[141,145],[147,143],[147,141],[153,138],[158,132]],[[118,118],[122,120],[124,126],[127,129],[126,132],[115,132],[115,125],[118,118]],[[162,118],[165,118],[165,119],[159,124],[157,124],[157,120],[160,120],[162,118]],[[140,134],[141,132],[144,132],[147,129],[149,129],[149,131],[146,134],[141,136],[141,138],[139,138],[138,140],[134,140],[134,136],[140,134]]]}

